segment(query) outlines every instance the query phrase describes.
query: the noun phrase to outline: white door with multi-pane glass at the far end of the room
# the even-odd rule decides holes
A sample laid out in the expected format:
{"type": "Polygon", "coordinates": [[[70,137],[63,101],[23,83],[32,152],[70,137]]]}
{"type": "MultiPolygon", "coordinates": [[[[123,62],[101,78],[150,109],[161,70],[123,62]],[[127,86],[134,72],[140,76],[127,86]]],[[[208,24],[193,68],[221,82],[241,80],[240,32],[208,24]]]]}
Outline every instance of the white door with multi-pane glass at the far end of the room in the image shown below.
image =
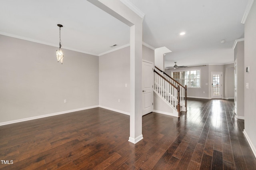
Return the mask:
{"type": "Polygon", "coordinates": [[[212,99],[222,98],[222,72],[211,72],[211,97],[212,99]]]}

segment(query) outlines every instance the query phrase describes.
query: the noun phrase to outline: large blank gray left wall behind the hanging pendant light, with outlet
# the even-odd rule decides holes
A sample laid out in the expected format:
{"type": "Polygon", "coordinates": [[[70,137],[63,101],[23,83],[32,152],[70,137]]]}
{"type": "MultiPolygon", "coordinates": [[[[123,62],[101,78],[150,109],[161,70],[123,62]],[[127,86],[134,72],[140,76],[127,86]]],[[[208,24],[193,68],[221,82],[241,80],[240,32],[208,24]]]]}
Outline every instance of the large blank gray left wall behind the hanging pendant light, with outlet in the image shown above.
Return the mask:
{"type": "Polygon", "coordinates": [[[98,57],[56,49],[0,35],[0,123],[98,105],[98,57]]]}

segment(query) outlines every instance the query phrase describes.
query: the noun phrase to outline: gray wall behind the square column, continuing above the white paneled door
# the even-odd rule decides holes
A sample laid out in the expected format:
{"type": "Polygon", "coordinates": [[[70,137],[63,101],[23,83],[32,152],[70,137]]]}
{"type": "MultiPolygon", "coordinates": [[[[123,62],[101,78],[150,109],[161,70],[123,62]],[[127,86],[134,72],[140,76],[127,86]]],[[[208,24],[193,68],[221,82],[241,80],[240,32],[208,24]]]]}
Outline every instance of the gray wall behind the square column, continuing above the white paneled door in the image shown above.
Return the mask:
{"type": "MultiPolygon", "coordinates": [[[[154,50],[142,45],[142,59],[154,62],[154,50]]],[[[130,113],[130,47],[99,57],[99,105],[130,113]]]]}

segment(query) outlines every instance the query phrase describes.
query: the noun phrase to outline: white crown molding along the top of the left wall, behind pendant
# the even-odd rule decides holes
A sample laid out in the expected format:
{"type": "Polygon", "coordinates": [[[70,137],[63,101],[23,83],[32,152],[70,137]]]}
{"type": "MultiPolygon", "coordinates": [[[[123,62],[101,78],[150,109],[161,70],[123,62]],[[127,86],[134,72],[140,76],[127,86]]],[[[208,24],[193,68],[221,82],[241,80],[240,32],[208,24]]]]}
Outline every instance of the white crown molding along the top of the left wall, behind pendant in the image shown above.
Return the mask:
{"type": "MultiPolygon", "coordinates": [[[[9,33],[6,33],[6,32],[0,32],[0,34],[3,35],[3,36],[8,36],[8,37],[12,37],[12,38],[18,38],[18,39],[26,40],[26,41],[30,41],[30,42],[41,43],[41,44],[44,44],[44,45],[50,45],[52,47],[60,47],[59,45],[56,45],[56,44],[53,44],[53,43],[48,43],[48,42],[43,42],[43,41],[40,41],[40,40],[35,40],[35,39],[32,39],[32,38],[17,36],[17,35],[9,34],[9,33]]],[[[61,48],[62,49],[68,49],[68,50],[71,50],[71,51],[80,52],[80,53],[85,53],[85,54],[89,54],[89,55],[98,56],[95,53],[90,53],[90,52],[87,52],[87,51],[82,51],[82,50],[74,49],[74,48],[70,48],[70,47],[62,46],[61,48]]]]}

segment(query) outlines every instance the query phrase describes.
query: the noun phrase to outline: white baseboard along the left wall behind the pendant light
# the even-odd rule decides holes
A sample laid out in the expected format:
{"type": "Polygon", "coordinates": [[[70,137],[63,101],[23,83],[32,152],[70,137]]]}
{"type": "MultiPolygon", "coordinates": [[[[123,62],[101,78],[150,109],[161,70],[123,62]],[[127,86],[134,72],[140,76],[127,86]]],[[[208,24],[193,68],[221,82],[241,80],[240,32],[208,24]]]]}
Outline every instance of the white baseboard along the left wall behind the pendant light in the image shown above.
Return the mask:
{"type": "Polygon", "coordinates": [[[50,113],[50,114],[47,114],[47,115],[40,115],[40,116],[28,117],[28,118],[24,118],[24,119],[17,119],[17,120],[14,120],[14,121],[1,122],[1,123],[0,123],[0,126],[9,125],[9,124],[13,124],[13,123],[24,122],[24,121],[31,121],[31,120],[34,120],[34,119],[40,119],[40,118],[44,118],[44,117],[62,115],[62,114],[66,114],[66,113],[71,113],[71,112],[76,112],[76,111],[82,111],[82,110],[92,109],[92,108],[96,108],[96,107],[99,107],[99,106],[96,105],[96,106],[84,107],[84,108],[80,108],[80,109],[73,109],[73,110],[69,110],[69,111],[62,111],[62,112],[57,112],[57,113],[50,113]]]}

